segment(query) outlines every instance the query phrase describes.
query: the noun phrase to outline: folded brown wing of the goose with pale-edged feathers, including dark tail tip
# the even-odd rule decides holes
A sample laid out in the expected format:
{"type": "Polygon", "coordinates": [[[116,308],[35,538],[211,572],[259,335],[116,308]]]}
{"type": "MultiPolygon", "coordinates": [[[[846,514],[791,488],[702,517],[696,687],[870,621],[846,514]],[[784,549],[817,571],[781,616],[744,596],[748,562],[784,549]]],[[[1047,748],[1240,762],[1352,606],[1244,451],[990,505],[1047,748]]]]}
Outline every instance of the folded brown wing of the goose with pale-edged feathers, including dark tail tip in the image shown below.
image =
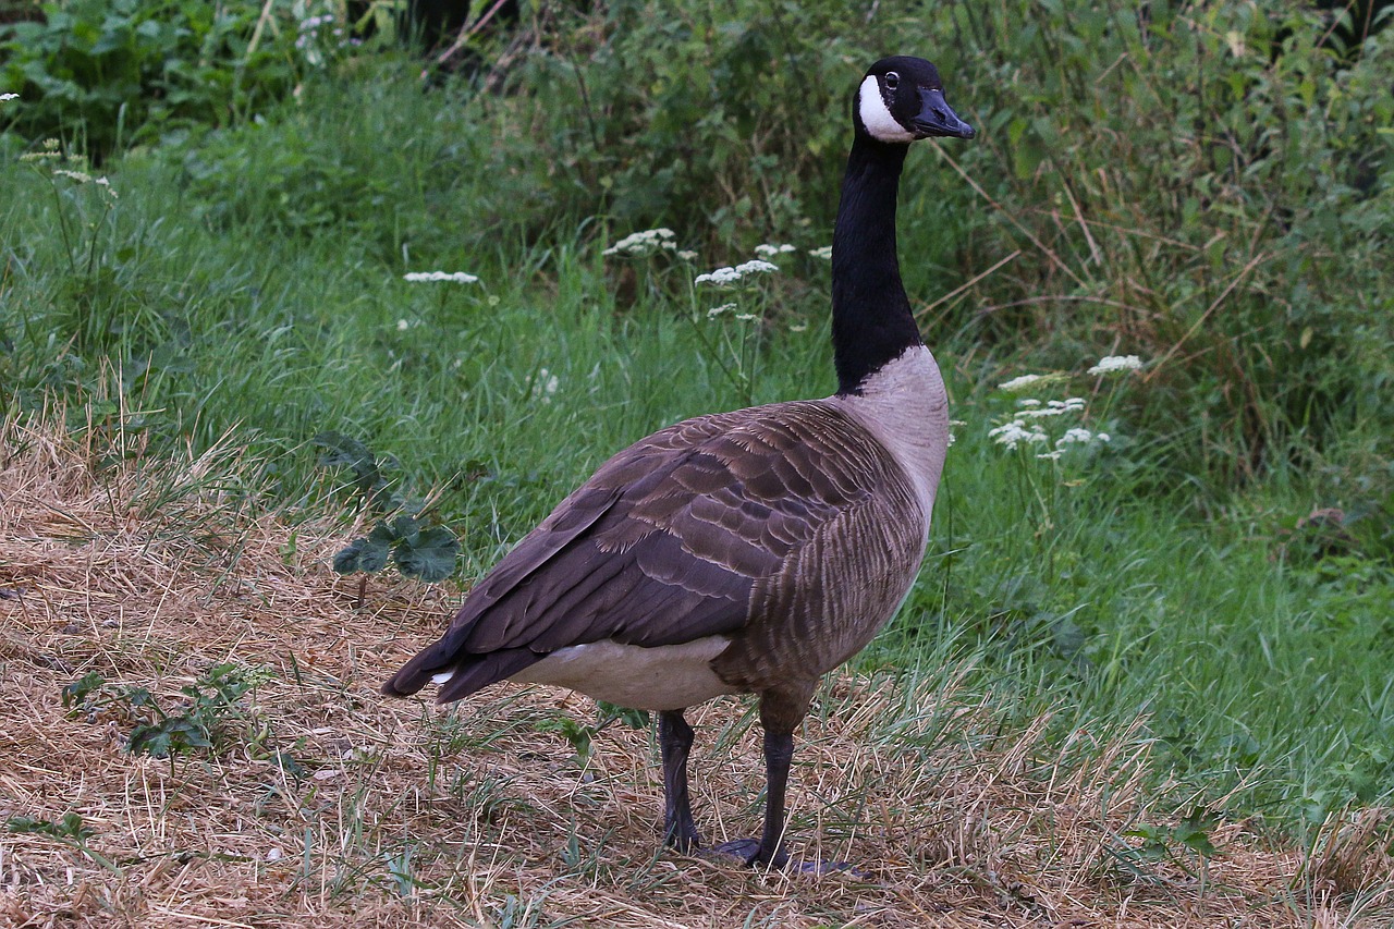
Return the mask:
{"type": "Polygon", "coordinates": [[[519,543],[445,636],[383,690],[414,693],[453,668],[441,692],[453,700],[572,644],[661,646],[744,629],[754,608],[776,605],[763,591],[788,573],[790,557],[864,511],[884,483],[888,455],[848,455],[866,438],[821,402],[655,432],[601,466],[519,543]]]}

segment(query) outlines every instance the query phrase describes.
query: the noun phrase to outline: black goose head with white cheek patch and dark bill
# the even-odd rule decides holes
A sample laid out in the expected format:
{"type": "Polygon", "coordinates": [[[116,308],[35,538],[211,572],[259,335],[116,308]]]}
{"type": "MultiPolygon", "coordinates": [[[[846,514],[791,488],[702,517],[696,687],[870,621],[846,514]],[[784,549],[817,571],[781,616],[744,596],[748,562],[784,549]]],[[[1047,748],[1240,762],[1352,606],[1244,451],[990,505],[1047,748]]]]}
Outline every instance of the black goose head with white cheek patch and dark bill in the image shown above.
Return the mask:
{"type": "Polygon", "coordinates": [[[940,71],[924,59],[896,54],[867,71],[852,107],[857,134],[907,145],[931,135],[973,138],[973,127],[944,99],[940,71]]]}

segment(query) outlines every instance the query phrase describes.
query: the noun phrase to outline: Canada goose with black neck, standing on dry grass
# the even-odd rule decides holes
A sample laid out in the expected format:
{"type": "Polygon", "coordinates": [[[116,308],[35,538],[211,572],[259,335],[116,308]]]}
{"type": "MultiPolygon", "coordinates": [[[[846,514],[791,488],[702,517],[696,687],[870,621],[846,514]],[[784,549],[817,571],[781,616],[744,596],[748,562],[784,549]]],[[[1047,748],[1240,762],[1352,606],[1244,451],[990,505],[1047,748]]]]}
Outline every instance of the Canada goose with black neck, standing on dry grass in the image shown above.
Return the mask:
{"type": "Polygon", "coordinates": [[[758,841],[782,866],[793,731],[824,672],[910,590],[948,446],[948,398],[901,283],[895,198],[909,142],[973,138],[940,74],[877,61],[857,86],[832,236],[838,392],[686,420],[640,439],[478,583],[450,629],[383,685],[439,702],[495,681],[567,686],[658,711],[664,829],[700,845],[683,710],[758,693],[768,788],[758,841]]]}

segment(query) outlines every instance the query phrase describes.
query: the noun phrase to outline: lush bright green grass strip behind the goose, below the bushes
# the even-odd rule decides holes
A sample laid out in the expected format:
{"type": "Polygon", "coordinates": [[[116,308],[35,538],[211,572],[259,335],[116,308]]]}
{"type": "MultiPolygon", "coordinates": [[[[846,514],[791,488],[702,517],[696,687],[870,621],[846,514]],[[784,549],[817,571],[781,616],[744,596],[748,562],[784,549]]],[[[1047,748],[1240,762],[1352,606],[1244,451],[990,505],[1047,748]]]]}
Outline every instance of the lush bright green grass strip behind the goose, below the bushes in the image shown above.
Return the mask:
{"type": "MultiPolygon", "coordinates": [[[[693,294],[680,265],[604,259],[631,229],[551,211],[495,153],[505,126],[443,103],[372,75],[311,81],[263,123],[113,162],[116,201],[7,158],[7,402],[60,398],[75,428],[124,416],[156,455],[233,430],[270,478],[252,505],[307,512],[354,506],[312,445],[353,435],[390,456],[404,492],[438,495],[473,580],[651,430],[832,389],[827,262],[790,257],[750,304],[768,299],[747,386],[721,338],[753,331],[705,318],[723,297],[693,294]],[[401,279],[431,269],[482,280],[401,279]]],[[[917,230],[934,186],[959,181],[928,151],[909,172],[902,251],[948,265],[917,230]]],[[[803,248],[831,240],[800,234],[803,248]]],[[[974,657],[973,686],[1023,717],[1052,709],[1061,741],[1144,716],[1178,802],[1301,830],[1394,801],[1394,572],[1358,544],[1316,557],[1282,534],[1323,502],[1313,474],[1280,463],[1238,490],[1175,477],[1168,449],[1129,431],[1140,378],[1096,416],[1115,434],[1096,456],[1057,469],[1009,453],[987,431],[1012,409],[995,385],[1023,371],[970,329],[933,347],[966,425],[921,583],[859,661],[914,672],[974,657]]],[[[1061,365],[1082,371],[1115,346],[1066,347],[1061,365]]]]}

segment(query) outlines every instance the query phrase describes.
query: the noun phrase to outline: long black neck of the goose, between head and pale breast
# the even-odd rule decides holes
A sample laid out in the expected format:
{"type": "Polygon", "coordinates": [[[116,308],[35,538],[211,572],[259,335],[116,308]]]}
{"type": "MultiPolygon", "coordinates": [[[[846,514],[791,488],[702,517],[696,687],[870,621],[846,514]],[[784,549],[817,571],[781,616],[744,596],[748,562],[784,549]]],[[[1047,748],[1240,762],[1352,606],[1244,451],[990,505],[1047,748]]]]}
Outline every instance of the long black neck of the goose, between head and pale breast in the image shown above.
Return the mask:
{"type": "Polygon", "coordinates": [[[832,354],[838,393],[861,382],[912,345],[920,331],[895,255],[895,195],[909,145],[857,133],[842,179],[832,232],[832,354]]]}

